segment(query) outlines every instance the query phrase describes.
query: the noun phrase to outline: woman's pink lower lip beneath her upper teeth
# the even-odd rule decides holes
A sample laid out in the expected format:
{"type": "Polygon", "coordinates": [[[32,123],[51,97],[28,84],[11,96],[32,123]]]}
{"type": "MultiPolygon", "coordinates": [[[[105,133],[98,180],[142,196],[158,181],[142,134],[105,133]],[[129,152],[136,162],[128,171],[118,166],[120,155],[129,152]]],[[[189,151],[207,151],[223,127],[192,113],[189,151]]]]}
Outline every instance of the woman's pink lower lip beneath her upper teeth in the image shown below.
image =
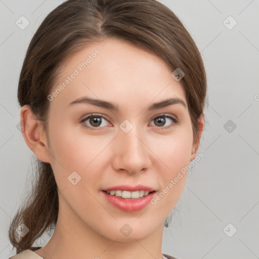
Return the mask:
{"type": "Polygon", "coordinates": [[[115,195],[110,195],[105,191],[102,191],[105,198],[116,208],[124,211],[138,211],[148,205],[151,199],[154,197],[155,192],[149,193],[147,196],[138,199],[123,199],[115,195]]]}

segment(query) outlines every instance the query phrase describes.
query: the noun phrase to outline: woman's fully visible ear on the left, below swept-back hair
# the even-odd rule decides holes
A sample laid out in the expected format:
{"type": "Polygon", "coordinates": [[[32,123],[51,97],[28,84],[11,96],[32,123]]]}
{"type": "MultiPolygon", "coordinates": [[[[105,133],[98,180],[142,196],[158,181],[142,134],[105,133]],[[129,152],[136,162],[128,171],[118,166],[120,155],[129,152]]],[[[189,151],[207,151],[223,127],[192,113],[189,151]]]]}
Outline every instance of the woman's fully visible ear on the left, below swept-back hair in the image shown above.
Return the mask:
{"type": "Polygon", "coordinates": [[[29,105],[24,105],[20,112],[20,123],[23,138],[35,154],[35,156],[42,162],[50,162],[50,153],[48,152],[47,138],[36,120],[29,105]]]}

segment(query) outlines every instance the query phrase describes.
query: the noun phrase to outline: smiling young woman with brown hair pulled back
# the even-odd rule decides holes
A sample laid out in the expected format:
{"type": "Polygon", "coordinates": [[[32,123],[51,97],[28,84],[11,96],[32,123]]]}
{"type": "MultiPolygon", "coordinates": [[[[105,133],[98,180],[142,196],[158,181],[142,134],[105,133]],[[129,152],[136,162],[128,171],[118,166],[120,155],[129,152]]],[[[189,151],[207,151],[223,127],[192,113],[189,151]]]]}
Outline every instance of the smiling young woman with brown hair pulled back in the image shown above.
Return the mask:
{"type": "Polygon", "coordinates": [[[10,226],[11,258],[175,258],[161,251],[163,226],[199,147],[205,96],[199,51],[161,3],[53,10],[19,79],[38,179],[10,226]]]}

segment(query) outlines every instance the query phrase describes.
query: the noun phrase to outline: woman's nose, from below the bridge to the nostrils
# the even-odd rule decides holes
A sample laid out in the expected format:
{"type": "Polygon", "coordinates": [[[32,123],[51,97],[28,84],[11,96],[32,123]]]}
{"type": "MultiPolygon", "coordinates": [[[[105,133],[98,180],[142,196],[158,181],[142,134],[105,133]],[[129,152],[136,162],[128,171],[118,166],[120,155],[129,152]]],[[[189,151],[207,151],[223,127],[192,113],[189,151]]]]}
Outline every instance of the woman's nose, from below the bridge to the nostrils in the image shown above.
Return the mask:
{"type": "Polygon", "coordinates": [[[116,171],[125,171],[134,175],[150,168],[151,160],[144,134],[134,126],[128,133],[119,130],[113,143],[112,165],[116,171]]]}

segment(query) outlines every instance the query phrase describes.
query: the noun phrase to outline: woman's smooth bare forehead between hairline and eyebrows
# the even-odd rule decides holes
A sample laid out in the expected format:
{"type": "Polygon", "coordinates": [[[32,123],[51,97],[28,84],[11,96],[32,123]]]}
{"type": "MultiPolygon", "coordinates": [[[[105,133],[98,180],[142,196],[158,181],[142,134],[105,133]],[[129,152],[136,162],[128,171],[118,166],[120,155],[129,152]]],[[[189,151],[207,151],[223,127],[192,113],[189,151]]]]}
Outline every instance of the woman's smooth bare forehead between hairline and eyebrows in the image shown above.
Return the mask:
{"type": "Polygon", "coordinates": [[[180,81],[161,58],[119,39],[92,42],[71,55],[61,71],[53,92],[62,90],[51,105],[68,105],[83,96],[124,104],[165,97],[186,102],[180,81]]]}

